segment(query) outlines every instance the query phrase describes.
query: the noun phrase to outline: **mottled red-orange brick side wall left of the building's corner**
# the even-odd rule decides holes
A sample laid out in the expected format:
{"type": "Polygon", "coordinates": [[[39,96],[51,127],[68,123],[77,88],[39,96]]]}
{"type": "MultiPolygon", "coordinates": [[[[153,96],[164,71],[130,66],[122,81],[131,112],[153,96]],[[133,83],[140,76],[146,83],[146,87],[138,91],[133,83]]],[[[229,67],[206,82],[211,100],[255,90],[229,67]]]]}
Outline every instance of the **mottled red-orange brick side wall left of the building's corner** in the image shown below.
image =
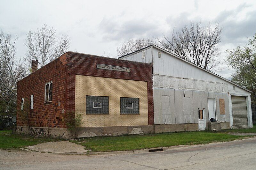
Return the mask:
{"type": "MultiPolygon", "coordinates": [[[[21,116],[21,98],[24,111],[29,111],[32,126],[64,127],[62,109],[65,109],[66,54],[31,73],[17,83],[17,125],[27,125],[21,116]],[[44,85],[52,81],[52,102],[44,103],[44,85]],[[33,109],[30,109],[30,95],[34,95],[33,109]],[[60,106],[58,103],[60,101],[60,106]],[[26,109],[26,106],[29,108],[26,109]]],[[[23,112],[24,113],[24,112],[23,112]]]]}

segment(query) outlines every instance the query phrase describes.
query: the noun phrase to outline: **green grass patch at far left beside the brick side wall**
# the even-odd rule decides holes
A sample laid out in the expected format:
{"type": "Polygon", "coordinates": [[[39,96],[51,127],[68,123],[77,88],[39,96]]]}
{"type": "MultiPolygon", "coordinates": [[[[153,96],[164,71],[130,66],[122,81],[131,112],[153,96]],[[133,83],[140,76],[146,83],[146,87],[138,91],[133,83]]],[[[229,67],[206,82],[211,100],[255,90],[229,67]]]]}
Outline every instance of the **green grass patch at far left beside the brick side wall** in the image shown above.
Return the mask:
{"type": "Polygon", "coordinates": [[[25,146],[40,144],[43,142],[54,142],[56,139],[50,137],[31,137],[12,134],[12,130],[0,130],[0,149],[14,149],[25,146]]]}

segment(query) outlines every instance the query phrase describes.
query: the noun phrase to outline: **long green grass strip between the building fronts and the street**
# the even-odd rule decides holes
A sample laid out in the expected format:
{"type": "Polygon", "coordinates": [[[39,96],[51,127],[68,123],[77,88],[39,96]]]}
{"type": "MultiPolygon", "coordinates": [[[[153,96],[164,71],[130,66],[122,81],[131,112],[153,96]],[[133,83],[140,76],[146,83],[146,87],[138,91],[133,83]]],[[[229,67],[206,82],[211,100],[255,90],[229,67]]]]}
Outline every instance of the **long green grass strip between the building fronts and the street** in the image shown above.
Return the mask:
{"type": "Polygon", "coordinates": [[[91,137],[70,140],[80,144],[90,152],[129,151],[174,145],[207,144],[224,142],[244,137],[228,135],[225,133],[212,133],[207,131],[176,132],[160,134],[140,134],[117,137],[91,137]]]}

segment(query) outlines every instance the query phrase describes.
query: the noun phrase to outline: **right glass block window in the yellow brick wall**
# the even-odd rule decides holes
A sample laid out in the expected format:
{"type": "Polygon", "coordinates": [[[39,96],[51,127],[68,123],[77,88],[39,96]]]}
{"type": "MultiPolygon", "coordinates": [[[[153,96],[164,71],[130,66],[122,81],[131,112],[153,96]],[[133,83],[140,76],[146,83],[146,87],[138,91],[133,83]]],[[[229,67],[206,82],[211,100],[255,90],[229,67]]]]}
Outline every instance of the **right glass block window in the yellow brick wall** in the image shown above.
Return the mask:
{"type": "Polygon", "coordinates": [[[139,98],[120,97],[121,114],[139,114],[139,98]]]}

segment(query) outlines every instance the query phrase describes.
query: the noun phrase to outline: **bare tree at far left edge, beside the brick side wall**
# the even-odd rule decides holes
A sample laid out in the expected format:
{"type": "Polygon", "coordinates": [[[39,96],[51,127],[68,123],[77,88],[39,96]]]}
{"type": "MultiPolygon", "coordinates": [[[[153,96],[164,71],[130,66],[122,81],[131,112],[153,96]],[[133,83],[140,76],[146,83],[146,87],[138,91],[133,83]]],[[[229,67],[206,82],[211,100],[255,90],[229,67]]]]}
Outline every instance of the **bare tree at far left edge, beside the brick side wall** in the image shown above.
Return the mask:
{"type": "Polygon", "coordinates": [[[15,57],[17,39],[0,30],[0,100],[9,115],[15,113],[17,81],[26,76],[23,62],[15,57]]]}

